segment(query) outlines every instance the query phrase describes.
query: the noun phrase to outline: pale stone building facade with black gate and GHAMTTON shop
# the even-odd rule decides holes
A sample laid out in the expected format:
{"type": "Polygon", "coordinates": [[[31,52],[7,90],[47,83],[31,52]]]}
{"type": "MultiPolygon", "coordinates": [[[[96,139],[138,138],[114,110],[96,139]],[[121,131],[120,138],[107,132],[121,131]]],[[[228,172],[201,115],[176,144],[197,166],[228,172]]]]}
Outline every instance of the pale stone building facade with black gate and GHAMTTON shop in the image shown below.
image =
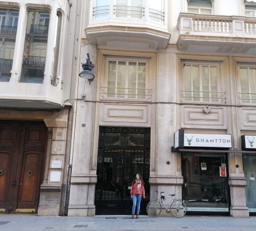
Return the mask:
{"type": "Polygon", "coordinates": [[[77,87],[68,215],[130,214],[139,173],[142,213],[157,190],[189,213],[248,217],[256,3],[155,2],[82,3],[80,62],[90,53],[96,77],[77,87]]]}

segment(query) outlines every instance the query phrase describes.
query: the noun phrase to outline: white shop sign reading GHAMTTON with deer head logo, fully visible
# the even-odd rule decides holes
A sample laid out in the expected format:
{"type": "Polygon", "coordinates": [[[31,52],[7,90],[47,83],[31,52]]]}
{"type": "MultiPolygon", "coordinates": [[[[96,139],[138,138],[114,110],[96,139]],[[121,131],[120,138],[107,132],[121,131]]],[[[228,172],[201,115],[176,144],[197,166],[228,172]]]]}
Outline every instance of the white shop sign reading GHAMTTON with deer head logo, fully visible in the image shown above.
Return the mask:
{"type": "Polygon", "coordinates": [[[174,148],[179,147],[231,148],[232,140],[230,134],[185,133],[180,129],[174,133],[174,148]]]}

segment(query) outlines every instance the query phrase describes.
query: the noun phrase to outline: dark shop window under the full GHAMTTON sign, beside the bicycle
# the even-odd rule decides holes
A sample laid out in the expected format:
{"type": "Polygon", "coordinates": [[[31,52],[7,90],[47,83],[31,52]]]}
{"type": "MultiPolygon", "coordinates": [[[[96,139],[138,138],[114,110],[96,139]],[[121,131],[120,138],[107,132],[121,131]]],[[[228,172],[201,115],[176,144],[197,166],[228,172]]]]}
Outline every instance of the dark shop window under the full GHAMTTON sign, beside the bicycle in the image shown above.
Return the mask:
{"type": "Polygon", "coordinates": [[[229,191],[225,154],[182,155],[183,199],[188,212],[228,212],[229,191]]]}

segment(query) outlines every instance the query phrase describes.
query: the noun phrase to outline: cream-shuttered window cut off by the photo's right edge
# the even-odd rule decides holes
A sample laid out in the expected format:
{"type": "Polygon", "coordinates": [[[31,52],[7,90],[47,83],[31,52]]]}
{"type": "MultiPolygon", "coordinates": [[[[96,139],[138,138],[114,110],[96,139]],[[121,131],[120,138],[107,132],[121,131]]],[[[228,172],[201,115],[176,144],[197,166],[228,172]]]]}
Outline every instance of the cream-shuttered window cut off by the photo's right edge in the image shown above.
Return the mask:
{"type": "Polygon", "coordinates": [[[241,100],[243,103],[256,103],[256,67],[240,66],[241,100]]]}

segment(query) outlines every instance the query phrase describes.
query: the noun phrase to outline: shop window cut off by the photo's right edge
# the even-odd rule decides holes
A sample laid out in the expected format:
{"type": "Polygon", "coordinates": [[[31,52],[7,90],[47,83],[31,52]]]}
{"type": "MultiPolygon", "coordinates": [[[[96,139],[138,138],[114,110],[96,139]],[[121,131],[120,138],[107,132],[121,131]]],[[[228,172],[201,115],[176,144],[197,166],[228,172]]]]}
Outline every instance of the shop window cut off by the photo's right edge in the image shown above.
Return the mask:
{"type": "Polygon", "coordinates": [[[256,155],[243,154],[243,171],[247,181],[246,201],[249,212],[256,212],[256,155]]]}

